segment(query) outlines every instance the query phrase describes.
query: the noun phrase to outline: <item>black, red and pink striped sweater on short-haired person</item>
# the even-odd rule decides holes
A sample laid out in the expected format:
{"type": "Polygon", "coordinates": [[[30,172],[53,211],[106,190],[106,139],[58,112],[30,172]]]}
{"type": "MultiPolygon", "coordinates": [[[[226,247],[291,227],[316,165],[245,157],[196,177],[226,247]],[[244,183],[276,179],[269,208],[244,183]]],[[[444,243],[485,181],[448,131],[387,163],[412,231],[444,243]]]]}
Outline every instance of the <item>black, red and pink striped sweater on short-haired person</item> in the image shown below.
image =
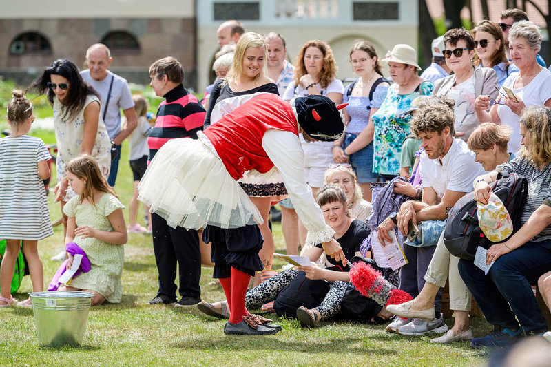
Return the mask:
{"type": "Polygon", "coordinates": [[[161,102],[157,109],[155,127],[147,138],[148,162],[170,139],[196,139],[197,132],[202,130],[205,120],[205,109],[197,101],[196,96],[189,93],[183,85],[178,85],[164,97],[165,101],[161,102]]]}

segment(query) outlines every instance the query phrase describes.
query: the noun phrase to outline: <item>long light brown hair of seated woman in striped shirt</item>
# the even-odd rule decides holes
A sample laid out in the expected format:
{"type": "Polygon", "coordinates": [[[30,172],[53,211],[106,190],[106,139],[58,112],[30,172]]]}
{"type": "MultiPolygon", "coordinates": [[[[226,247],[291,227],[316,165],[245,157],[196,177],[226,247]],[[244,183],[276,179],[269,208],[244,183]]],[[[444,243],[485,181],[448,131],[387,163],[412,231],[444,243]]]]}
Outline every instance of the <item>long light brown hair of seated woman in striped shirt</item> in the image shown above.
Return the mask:
{"type": "Polygon", "coordinates": [[[551,162],[551,108],[526,107],[520,123],[530,132],[530,146],[523,149],[521,156],[537,166],[551,162]]]}

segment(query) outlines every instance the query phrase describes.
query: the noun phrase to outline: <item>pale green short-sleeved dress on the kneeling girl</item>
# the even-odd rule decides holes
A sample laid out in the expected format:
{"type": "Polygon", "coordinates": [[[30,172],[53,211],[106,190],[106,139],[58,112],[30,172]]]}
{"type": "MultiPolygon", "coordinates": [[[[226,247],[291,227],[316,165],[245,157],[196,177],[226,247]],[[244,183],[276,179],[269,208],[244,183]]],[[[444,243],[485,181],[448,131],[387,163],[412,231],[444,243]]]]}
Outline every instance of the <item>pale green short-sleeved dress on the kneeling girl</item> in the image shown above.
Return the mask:
{"type": "MultiPolygon", "coordinates": [[[[112,232],[113,227],[107,216],[116,209],[124,208],[125,206],[116,196],[103,193],[96,205],[81,204],[80,196],[74,196],[63,207],[63,212],[75,218],[76,227],[88,226],[100,231],[112,232]]],[[[90,260],[90,271],[74,277],[69,285],[78,289],[92,289],[103,295],[110,303],[121,302],[125,258],[123,245],[103,242],[97,238],[81,238],[78,235],[74,237],[73,242],[86,253],[90,260]]]]}

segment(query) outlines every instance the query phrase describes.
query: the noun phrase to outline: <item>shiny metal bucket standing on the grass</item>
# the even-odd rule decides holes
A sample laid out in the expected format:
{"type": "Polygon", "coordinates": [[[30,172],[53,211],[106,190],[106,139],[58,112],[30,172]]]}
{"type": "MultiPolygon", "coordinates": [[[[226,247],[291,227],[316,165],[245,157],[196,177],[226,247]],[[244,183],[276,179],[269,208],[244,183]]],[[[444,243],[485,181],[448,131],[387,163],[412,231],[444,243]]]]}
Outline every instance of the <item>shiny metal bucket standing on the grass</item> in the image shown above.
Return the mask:
{"type": "Polygon", "coordinates": [[[41,345],[81,344],[94,294],[57,291],[29,295],[41,345]]]}

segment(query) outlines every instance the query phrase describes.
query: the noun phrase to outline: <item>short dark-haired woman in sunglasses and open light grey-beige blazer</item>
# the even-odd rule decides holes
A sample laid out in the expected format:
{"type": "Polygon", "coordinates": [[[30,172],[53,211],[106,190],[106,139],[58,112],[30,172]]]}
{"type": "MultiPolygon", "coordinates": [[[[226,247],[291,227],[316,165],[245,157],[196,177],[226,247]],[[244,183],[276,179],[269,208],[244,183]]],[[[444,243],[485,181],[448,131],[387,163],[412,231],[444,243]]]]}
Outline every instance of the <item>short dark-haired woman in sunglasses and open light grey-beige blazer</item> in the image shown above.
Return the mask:
{"type": "Polygon", "coordinates": [[[445,96],[455,102],[455,132],[457,137],[467,141],[472,131],[479,125],[475,111],[475,98],[488,95],[496,98],[497,76],[489,67],[472,67],[471,59],[475,54],[475,40],[468,30],[455,28],[444,34],[442,52],[446,65],[453,74],[435,82],[434,94],[445,96]]]}

